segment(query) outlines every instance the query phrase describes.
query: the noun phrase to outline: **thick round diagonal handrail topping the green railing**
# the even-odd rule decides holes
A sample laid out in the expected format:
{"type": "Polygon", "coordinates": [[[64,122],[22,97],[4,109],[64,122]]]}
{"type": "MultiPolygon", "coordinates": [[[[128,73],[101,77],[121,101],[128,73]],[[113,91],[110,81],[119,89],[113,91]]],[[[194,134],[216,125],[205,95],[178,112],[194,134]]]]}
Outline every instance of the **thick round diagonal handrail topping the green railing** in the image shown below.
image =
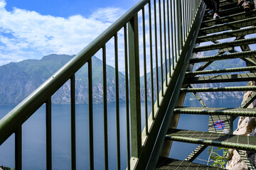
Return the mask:
{"type": "Polygon", "coordinates": [[[149,0],[142,0],[136,6],[119,18],[107,30],[93,40],[78,55],[73,57],[65,66],[58,70],[52,77],[25,98],[8,115],[0,120],[0,145],[28,119],[50,96],[52,96],[60,86],[63,86],[78,69],[88,62],[95,53],[102,48],[124,25],[137,13],[149,0]]]}

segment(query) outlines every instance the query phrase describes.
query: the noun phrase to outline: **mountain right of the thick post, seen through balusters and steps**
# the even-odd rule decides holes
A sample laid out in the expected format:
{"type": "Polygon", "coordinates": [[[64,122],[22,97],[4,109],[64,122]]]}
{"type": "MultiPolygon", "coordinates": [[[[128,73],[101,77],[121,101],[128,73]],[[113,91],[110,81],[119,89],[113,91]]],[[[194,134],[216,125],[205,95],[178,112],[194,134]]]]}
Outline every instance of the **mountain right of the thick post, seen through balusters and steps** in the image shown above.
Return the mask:
{"type": "MultiPolygon", "coordinates": [[[[207,52],[199,52],[197,57],[206,57],[211,55],[216,55],[218,53],[218,50],[211,50],[207,52]]],[[[167,63],[169,61],[167,60],[167,63]]],[[[198,69],[204,63],[198,63],[195,64],[193,67],[193,70],[198,69]]],[[[205,70],[212,70],[212,69],[223,69],[223,68],[233,68],[233,67],[246,67],[246,64],[244,61],[240,59],[232,59],[232,60],[226,60],[226,62],[223,61],[215,61],[212,64],[210,64],[205,70]]],[[[161,90],[161,67],[159,68],[159,92],[161,90]]],[[[165,64],[163,64],[164,69],[164,79],[165,79],[165,64]]],[[[169,69],[167,69],[169,71],[169,69]]],[[[156,68],[153,69],[153,79],[154,79],[154,101],[156,100],[156,68]]],[[[141,99],[144,101],[144,77],[141,77],[141,99]]],[[[148,101],[151,101],[151,75],[150,73],[146,74],[146,86],[147,86],[147,98],[148,101]]],[[[247,82],[231,82],[231,83],[213,83],[213,84],[192,84],[194,88],[203,88],[203,87],[223,87],[223,86],[245,86],[247,82]]],[[[242,98],[244,92],[243,91],[228,91],[228,92],[204,92],[204,93],[198,93],[199,96],[205,100],[213,100],[216,98],[242,98]]],[[[186,94],[186,99],[193,99],[197,100],[196,97],[192,93],[186,94]]]]}

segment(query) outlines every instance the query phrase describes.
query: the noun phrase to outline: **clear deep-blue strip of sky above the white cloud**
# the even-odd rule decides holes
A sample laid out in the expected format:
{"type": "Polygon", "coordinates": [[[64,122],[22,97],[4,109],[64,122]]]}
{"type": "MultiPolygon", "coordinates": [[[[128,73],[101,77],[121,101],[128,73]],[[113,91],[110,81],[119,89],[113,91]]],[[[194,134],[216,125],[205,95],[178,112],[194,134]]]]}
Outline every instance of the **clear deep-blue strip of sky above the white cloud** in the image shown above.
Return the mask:
{"type": "Polygon", "coordinates": [[[36,11],[41,15],[69,17],[73,15],[90,16],[98,8],[131,8],[137,1],[135,0],[6,0],[6,10],[13,8],[36,11]]]}

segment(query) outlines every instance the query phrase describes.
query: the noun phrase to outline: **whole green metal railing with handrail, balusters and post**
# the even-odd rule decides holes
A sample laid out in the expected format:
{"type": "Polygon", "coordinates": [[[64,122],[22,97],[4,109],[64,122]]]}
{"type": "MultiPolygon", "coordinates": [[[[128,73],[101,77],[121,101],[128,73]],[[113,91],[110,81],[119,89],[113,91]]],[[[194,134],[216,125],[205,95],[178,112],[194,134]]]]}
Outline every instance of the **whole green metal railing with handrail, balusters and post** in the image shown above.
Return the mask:
{"type": "Polygon", "coordinates": [[[120,169],[119,135],[119,65],[118,42],[124,43],[126,122],[127,122],[127,169],[153,169],[156,166],[161,146],[164,142],[175,101],[181,88],[188,60],[196,42],[199,25],[205,6],[201,0],[142,0],[107,28],[100,36],[87,45],[70,62],[65,64],[50,79],[22,101],[16,108],[0,120],[0,145],[15,133],[15,166],[22,168],[22,124],[46,103],[46,167],[52,169],[52,122],[51,97],[65,82],[70,80],[71,115],[71,165],[76,169],[75,141],[75,73],[85,64],[88,71],[89,98],[89,143],[90,169],[94,169],[93,112],[92,112],[92,56],[102,51],[103,64],[103,106],[104,106],[104,146],[105,169],[108,169],[107,143],[107,48],[114,38],[116,127],[117,127],[117,169],[120,169]],[[138,17],[142,14],[142,24],[138,17]],[[142,42],[139,40],[142,29],[142,42]],[[124,39],[120,40],[122,32],[124,39]],[[154,34],[154,36],[153,36],[154,34]],[[163,40],[164,39],[164,40],[163,40]],[[141,45],[142,46],[139,46],[141,45]],[[147,50],[149,49],[149,50],[147,50]],[[140,52],[142,51],[142,52],[140,52]],[[143,56],[143,61],[139,59],[143,56]],[[147,84],[146,63],[150,60],[150,84],[147,84]],[[160,62],[159,62],[160,60],[160,62]],[[140,86],[139,64],[144,65],[144,89],[140,86]],[[156,72],[154,72],[154,67],[156,72]],[[128,71],[129,70],[129,71],[128,71]],[[160,72],[159,72],[160,70],[160,72]],[[129,77],[128,77],[129,75],[129,77]],[[156,77],[156,80],[154,80],[156,77]],[[151,88],[151,96],[147,88],[151,88]],[[156,86],[156,89],[154,89],[156,86]],[[151,114],[145,102],[146,125],[142,131],[141,90],[144,100],[151,100],[151,114]],[[160,90],[160,91],[159,91],[160,90]],[[155,99],[156,98],[156,99],[155,99]],[[131,136],[130,136],[131,134],[131,136]],[[131,151],[131,152],[130,152],[131,151]]]}

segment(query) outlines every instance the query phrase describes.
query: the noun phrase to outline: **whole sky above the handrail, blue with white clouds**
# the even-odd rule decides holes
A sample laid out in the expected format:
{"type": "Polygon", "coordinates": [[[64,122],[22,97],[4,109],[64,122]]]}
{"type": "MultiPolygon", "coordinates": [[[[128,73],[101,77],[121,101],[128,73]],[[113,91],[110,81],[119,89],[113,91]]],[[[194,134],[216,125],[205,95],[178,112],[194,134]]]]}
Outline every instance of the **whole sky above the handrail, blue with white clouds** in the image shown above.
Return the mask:
{"type": "Polygon", "coordinates": [[[0,0],[0,66],[77,54],[138,1],[0,0]]]}

